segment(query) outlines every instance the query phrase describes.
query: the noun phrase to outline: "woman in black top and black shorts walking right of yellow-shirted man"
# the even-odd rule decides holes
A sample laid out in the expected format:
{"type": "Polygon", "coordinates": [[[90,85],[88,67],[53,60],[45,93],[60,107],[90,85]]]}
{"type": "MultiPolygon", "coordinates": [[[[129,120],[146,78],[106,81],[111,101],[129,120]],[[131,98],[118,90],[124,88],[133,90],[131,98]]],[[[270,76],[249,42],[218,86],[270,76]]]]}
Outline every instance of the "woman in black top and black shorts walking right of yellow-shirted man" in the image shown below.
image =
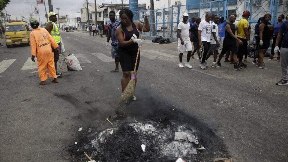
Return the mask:
{"type": "Polygon", "coordinates": [[[271,14],[266,13],[262,23],[259,25],[259,38],[260,38],[260,52],[259,52],[259,63],[257,64],[260,69],[268,69],[263,64],[264,53],[270,46],[270,42],[273,42],[272,36],[274,31],[274,26],[269,22],[271,20],[271,14]]]}

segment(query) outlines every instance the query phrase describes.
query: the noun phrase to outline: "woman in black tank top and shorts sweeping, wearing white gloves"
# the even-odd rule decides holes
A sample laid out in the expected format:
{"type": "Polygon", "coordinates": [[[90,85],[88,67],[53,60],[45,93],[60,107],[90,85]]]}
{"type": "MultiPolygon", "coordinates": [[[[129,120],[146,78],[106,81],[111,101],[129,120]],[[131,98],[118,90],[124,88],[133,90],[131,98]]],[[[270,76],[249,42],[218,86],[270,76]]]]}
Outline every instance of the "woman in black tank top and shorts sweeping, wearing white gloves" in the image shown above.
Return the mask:
{"type": "MultiPolygon", "coordinates": [[[[149,15],[148,11],[145,11],[145,26],[139,21],[133,21],[133,12],[129,9],[123,9],[119,12],[119,16],[121,19],[121,25],[119,25],[116,29],[116,38],[119,42],[118,54],[119,54],[119,62],[123,71],[121,86],[122,92],[127,87],[130,79],[131,79],[131,71],[134,70],[138,47],[142,45],[142,40],[139,39],[139,31],[143,30],[143,32],[150,31],[149,20],[147,19],[149,15]]],[[[140,63],[140,53],[137,59],[137,67],[138,70],[140,63]]],[[[132,79],[135,79],[135,83],[137,81],[136,75],[133,76],[132,79]]],[[[136,101],[136,97],[133,97],[133,101],[136,101]]]]}

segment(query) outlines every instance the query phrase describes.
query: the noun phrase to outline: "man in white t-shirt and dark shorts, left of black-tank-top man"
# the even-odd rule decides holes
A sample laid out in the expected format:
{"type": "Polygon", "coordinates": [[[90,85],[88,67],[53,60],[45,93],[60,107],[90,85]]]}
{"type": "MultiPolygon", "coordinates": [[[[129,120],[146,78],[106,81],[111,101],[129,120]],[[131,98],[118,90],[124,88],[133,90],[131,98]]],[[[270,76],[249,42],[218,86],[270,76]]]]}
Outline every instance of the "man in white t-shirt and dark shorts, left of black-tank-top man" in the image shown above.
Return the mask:
{"type": "Polygon", "coordinates": [[[210,43],[208,55],[206,56],[206,59],[205,59],[205,63],[204,63],[205,67],[208,66],[208,64],[207,64],[208,58],[210,57],[210,55],[212,55],[214,53],[213,64],[211,65],[211,67],[220,68],[220,66],[218,66],[216,64],[216,59],[217,59],[217,55],[218,55],[218,48],[220,47],[220,43],[219,43],[220,38],[218,36],[218,32],[219,32],[218,22],[219,22],[219,16],[214,15],[213,22],[212,22],[212,34],[211,34],[211,38],[210,38],[211,43],[210,43]]]}

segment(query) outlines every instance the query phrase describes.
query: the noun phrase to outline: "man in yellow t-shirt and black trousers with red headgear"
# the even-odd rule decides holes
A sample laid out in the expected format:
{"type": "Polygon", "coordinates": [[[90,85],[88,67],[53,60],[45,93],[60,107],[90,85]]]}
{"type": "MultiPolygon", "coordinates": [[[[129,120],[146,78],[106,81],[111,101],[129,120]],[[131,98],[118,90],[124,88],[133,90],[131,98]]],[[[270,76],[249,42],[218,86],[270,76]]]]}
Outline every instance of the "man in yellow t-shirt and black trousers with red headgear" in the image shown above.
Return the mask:
{"type": "Polygon", "coordinates": [[[244,69],[247,68],[247,64],[244,64],[242,62],[243,60],[243,55],[246,52],[247,53],[247,46],[250,44],[249,40],[249,32],[248,32],[248,27],[249,27],[249,22],[247,19],[249,19],[250,12],[249,11],[244,11],[242,14],[243,19],[241,19],[238,24],[237,24],[237,35],[236,37],[239,38],[242,42],[243,45],[239,45],[238,47],[238,52],[237,52],[237,57],[239,58],[239,66],[242,66],[244,69]]]}

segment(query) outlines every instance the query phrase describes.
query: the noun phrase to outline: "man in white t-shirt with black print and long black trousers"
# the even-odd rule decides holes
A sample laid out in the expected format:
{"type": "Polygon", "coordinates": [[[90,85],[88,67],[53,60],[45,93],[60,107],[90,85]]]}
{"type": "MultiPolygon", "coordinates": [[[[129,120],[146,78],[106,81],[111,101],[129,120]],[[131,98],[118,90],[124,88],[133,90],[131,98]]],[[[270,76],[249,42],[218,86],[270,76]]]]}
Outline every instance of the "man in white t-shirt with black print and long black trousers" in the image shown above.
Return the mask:
{"type": "Polygon", "coordinates": [[[201,39],[199,40],[199,46],[202,46],[202,57],[201,62],[199,64],[199,67],[201,67],[201,69],[206,68],[204,63],[211,42],[211,30],[212,30],[211,19],[212,14],[206,13],[205,20],[202,20],[198,26],[198,38],[201,39]]]}

